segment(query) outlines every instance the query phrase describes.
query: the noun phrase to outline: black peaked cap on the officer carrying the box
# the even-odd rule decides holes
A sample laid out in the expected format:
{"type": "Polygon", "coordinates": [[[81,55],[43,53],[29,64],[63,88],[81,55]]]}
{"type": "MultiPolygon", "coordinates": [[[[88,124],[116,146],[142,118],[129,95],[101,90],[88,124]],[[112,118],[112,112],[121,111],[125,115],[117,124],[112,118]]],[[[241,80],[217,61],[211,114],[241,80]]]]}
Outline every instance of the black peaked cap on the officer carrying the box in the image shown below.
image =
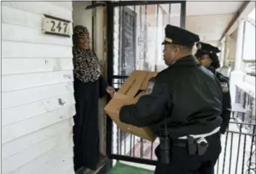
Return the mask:
{"type": "Polygon", "coordinates": [[[174,43],[181,46],[193,46],[194,43],[199,40],[198,35],[191,33],[188,30],[173,25],[166,25],[165,41],[162,42],[162,45],[165,45],[166,43],[174,43]]]}

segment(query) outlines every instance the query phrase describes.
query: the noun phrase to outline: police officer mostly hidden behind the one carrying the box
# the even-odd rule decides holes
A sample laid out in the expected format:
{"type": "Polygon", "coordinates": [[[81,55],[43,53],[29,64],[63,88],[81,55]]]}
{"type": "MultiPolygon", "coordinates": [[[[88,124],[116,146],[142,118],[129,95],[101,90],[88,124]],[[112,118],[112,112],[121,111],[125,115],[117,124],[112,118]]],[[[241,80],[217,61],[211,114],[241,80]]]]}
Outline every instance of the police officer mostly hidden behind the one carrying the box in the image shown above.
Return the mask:
{"type": "Polygon", "coordinates": [[[220,49],[215,46],[208,43],[197,43],[197,53],[195,57],[197,57],[201,65],[216,75],[220,81],[223,93],[223,112],[220,115],[223,118],[223,123],[220,126],[220,133],[224,134],[228,128],[231,116],[231,94],[229,91],[228,78],[216,70],[220,67],[220,61],[217,56],[218,53],[220,53],[220,49]]]}

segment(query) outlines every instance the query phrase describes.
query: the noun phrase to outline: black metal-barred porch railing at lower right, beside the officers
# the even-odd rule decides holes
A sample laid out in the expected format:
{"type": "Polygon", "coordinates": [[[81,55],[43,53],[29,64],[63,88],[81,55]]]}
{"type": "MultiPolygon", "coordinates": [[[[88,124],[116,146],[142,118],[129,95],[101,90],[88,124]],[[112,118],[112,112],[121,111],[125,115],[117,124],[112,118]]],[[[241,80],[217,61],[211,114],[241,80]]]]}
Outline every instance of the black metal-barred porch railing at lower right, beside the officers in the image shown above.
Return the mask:
{"type": "Polygon", "coordinates": [[[218,174],[255,173],[255,125],[233,119],[221,136],[222,152],[215,165],[218,174]],[[248,133],[248,129],[253,130],[248,133]]]}

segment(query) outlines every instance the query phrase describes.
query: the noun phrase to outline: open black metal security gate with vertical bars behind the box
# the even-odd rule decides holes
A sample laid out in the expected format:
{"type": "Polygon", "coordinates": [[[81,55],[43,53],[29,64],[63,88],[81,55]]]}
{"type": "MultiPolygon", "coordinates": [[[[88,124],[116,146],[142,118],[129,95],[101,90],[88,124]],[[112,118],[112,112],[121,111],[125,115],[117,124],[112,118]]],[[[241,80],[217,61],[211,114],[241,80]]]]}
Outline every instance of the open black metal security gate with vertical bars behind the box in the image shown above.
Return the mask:
{"type": "MultiPolygon", "coordinates": [[[[186,1],[107,3],[107,78],[117,90],[133,70],[160,71],[167,24],[185,27],[186,1]]],[[[155,165],[151,143],[122,132],[107,117],[107,155],[111,159],[155,165]]]]}

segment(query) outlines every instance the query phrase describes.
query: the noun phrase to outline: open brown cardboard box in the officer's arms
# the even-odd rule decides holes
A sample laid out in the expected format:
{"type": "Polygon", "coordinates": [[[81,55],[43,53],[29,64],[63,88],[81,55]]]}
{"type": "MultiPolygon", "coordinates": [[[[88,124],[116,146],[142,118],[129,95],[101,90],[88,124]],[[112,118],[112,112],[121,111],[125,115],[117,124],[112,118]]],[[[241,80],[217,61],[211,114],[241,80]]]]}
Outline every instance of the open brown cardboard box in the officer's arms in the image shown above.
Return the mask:
{"type": "Polygon", "coordinates": [[[144,70],[133,71],[127,80],[125,80],[123,86],[117,91],[113,99],[110,100],[106,107],[104,107],[105,112],[110,115],[120,130],[133,133],[135,136],[139,136],[152,142],[156,139],[156,136],[154,136],[150,128],[138,128],[134,125],[120,122],[118,109],[125,105],[135,104],[139,97],[146,95],[145,90],[148,86],[149,79],[154,77],[154,75],[157,75],[157,72],[144,70]]]}

